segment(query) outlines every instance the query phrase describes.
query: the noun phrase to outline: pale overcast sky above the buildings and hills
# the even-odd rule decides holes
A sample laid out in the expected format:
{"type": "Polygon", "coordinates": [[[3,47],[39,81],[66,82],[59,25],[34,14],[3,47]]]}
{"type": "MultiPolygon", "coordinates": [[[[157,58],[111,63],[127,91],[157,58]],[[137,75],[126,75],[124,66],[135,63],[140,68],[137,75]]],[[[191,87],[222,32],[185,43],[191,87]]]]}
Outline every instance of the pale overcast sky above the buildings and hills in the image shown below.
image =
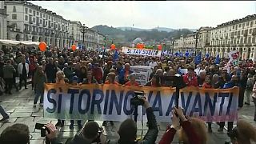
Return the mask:
{"type": "Polygon", "coordinates": [[[256,14],[254,1],[30,1],[88,27],[198,29],[256,14]]]}

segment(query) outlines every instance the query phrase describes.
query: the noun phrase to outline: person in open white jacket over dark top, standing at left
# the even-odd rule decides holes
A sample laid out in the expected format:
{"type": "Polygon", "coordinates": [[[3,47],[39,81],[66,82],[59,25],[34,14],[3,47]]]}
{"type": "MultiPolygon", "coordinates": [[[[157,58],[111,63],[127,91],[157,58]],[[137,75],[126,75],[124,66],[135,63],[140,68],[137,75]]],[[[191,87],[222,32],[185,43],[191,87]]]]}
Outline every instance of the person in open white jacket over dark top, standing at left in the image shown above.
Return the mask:
{"type": "Polygon", "coordinates": [[[22,58],[22,62],[18,64],[18,74],[19,74],[19,90],[22,90],[22,82],[24,81],[25,89],[27,75],[29,74],[29,64],[26,63],[26,59],[22,58]]]}

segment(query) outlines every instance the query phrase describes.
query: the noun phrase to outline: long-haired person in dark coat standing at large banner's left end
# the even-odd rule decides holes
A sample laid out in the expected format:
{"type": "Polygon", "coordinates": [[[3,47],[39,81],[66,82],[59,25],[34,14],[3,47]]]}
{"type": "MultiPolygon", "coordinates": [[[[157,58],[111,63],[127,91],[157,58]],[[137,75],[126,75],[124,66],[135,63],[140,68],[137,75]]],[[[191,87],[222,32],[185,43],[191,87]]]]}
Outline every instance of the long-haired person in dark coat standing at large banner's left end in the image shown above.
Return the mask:
{"type": "Polygon", "coordinates": [[[46,79],[46,74],[42,69],[43,69],[42,66],[38,66],[38,69],[34,74],[35,97],[34,97],[33,107],[36,107],[39,97],[40,97],[40,106],[42,106],[42,103],[43,103],[44,84],[45,82],[47,82],[47,79],[46,79]]]}

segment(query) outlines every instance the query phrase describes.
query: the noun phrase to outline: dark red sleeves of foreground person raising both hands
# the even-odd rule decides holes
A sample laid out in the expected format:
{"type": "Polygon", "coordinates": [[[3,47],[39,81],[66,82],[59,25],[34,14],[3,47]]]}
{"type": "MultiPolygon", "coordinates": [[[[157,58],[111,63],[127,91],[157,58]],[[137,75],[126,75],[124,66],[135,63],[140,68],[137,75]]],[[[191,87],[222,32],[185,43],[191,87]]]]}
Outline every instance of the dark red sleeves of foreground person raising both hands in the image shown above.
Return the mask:
{"type": "MultiPolygon", "coordinates": [[[[200,136],[195,133],[195,130],[191,126],[191,123],[189,121],[184,121],[181,123],[181,125],[183,130],[186,133],[186,136],[190,144],[202,144],[200,136]]],[[[176,130],[174,128],[170,128],[170,126],[167,126],[166,134],[163,134],[159,144],[170,144],[170,142],[174,140],[175,134],[176,134],[176,130]]]]}

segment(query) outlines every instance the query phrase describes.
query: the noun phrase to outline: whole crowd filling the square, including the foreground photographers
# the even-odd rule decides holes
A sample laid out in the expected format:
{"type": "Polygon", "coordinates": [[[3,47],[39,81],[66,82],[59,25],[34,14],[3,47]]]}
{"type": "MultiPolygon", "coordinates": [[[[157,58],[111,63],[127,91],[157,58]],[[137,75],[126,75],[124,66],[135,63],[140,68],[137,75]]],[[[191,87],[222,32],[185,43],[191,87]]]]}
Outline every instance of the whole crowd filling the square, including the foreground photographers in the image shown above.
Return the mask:
{"type": "MultiPolygon", "coordinates": [[[[11,51],[7,53],[0,52],[0,85],[1,87],[4,86],[5,89],[2,93],[12,94],[13,86],[17,91],[21,90],[22,86],[27,89],[27,79],[32,78],[32,90],[34,90],[35,95],[34,107],[37,106],[38,98],[40,98],[39,106],[43,106],[44,83],[46,82],[70,83],[71,85],[98,83],[139,86],[130,66],[152,66],[153,72],[145,86],[174,86],[173,82],[164,81],[161,77],[174,76],[175,74],[182,74],[186,86],[198,86],[206,89],[226,89],[238,86],[238,110],[242,109],[244,104],[250,105],[253,102],[255,106],[254,121],[256,122],[256,63],[251,60],[241,61],[238,66],[231,65],[227,67],[228,58],[222,58],[217,63],[214,57],[202,58],[201,62],[195,62],[192,56],[163,55],[160,58],[154,58],[119,53],[118,58],[114,58],[113,55],[114,52],[111,50],[103,54],[95,50],[72,51],[59,49],[46,50],[46,52],[22,49],[17,50],[15,54],[11,51]],[[7,56],[4,57],[5,55],[7,56]],[[187,70],[185,74],[184,69],[187,70]],[[19,78],[18,86],[16,83],[17,77],[19,78]],[[244,95],[246,95],[246,102],[244,102],[244,95]]],[[[146,99],[143,100],[149,130],[145,138],[136,143],[154,143],[158,136],[157,120],[149,102],[146,99]]],[[[166,134],[162,136],[159,143],[171,143],[176,131],[179,131],[179,141],[183,143],[205,144],[207,142],[206,126],[204,126],[202,120],[188,118],[182,113],[180,107],[174,108],[172,112],[172,125],[167,126],[166,134]]],[[[0,122],[5,122],[10,118],[2,106],[0,106],[0,113],[3,117],[0,122]]],[[[62,127],[64,123],[64,120],[58,119],[55,126],[62,127]]],[[[73,129],[74,121],[70,123],[70,129],[73,129]]],[[[253,126],[240,121],[238,126],[233,129],[233,123],[228,122],[227,130],[233,143],[250,143],[250,140],[256,142],[256,131],[253,126]],[[246,126],[250,128],[243,128],[246,126]]],[[[110,124],[113,126],[114,122],[110,122],[110,124]]],[[[218,122],[218,125],[218,131],[223,131],[225,122],[218,122]]],[[[54,134],[56,133],[55,126],[47,125],[50,133],[46,137],[53,143],[55,141],[54,134]]],[[[107,122],[103,122],[103,126],[107,126],[107,122]]],[[[81,128],[82,122],[78,121],[78,129],[81,128]]],[[[70,138],[66,143],[94,142],[94,139],[98,138],[98,128],[98,124],[91,118],[89,122],[86,122],[82,136],[70,138]]],[[[0,143],[15,143],[18,138],[24,138],[19,140],[18,143],[28,143],[29,131],[26,129],[27,126],[22,126],[22,124],[6,128],[0,135],[0,143]],[[22,129],[25,129],[25,132],[21,132],[22,129]],[[22,134],[22,136],[10,138],[11,133],[22,134]]],[[[135,122],[127,119],[119,127],[120,139],[117,143],[134,143],[136,132],[135,122]]],[[[208,132],[212,132],[211,122],[208,122],[208,132]]]]}

